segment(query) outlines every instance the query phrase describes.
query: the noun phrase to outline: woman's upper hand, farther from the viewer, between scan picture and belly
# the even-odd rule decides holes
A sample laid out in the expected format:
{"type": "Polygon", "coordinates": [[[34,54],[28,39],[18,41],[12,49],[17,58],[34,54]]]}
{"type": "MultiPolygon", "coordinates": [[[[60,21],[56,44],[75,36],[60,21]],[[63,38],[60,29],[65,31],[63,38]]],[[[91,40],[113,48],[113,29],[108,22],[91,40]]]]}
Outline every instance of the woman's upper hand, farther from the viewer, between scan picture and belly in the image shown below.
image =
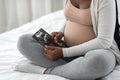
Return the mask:
{"type": "Polygon", "coordinates": [[[62,46],[61,39],[63,38],[64,34],[62,32],[52,32],[51,36],[54,38],[54,43],[58,46],[62,46]]]}

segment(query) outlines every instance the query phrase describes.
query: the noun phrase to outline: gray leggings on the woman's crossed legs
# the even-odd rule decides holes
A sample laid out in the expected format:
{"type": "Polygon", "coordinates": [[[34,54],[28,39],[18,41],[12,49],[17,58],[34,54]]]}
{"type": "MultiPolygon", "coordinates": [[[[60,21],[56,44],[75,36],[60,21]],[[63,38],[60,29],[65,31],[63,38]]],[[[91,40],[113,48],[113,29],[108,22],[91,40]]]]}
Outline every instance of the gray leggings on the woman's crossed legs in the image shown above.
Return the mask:
{"type": "Polygon", "coordinates": [[[51,61],[44,55],[44,49],[26,34],[18,40],[19,51],[33,64],[48,68],[46,74],[54,74],[72,80],[95,80],[108,75],[115,67],[112,52],[105,49],[91,50],[84,56],[51,61]],[[70,59],[66,61],[66,59],[70,59]]]}

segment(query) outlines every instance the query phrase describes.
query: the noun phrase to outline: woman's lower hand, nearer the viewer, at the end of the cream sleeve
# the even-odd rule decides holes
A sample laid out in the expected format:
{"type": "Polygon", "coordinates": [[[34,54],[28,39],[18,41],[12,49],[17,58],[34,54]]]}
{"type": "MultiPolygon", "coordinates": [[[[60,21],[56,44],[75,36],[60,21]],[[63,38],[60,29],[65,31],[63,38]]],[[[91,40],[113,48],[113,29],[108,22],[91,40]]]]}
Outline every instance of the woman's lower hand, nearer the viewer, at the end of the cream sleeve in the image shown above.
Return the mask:
{"type": "Polygon", "coordinates": [[[58,60],[63,57],[62,48],[45,46],[45,56],[50,60],[58,60]]]}

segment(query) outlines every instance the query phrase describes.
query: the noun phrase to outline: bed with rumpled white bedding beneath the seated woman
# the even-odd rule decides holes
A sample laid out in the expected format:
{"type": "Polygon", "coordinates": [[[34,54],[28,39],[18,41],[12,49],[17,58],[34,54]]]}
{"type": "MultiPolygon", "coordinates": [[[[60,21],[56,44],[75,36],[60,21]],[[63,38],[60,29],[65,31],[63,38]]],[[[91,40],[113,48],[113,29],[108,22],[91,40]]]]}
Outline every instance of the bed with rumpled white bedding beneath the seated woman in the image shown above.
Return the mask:
{"type": "MultiPolygon", "coordinates": [[[[58,31],[64,23],[63,11],[60,10],[0,34],[0,80],[68,80],[56,75],[22,73],[13,70],[15,63],[29,62],[17,50],[16,43],[19,36],[35,33],[39,28],[49,33],[58,31]]],[[[111,74],[101,80],[120,80],[120,66],[117,65],[111,74]]]]}

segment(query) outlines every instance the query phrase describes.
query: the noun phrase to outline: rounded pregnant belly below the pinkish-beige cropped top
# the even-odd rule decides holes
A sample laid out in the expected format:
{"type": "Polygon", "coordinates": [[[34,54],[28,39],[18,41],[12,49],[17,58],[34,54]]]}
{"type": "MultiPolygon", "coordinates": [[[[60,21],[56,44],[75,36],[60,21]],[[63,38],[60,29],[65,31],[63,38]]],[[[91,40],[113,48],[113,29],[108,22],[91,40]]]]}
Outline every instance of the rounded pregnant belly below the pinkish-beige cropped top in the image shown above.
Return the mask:
{"type": "Polygon", "coordinates": [[[95,34],[92,26],[80,25],[70,21],[66,23],[64,40],[67,46],[78,45],[93,38],[95,38],[95,34]]]}

